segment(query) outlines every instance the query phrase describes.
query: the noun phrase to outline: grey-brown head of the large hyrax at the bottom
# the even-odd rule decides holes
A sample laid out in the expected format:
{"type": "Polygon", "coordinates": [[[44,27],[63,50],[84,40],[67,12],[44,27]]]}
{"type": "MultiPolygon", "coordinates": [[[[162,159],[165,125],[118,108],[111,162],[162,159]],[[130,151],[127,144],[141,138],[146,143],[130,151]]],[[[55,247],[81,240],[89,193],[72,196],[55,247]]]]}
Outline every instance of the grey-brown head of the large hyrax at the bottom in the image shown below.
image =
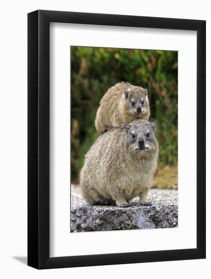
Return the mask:
{"type": "Polygon", "coordinates": [[[142,154],[151,153],[158,148],[157,140],[154,136],[156,123],[146,120],[134,120],[129,124],[124,124],[127,133],[126,142],[129,148],[142,154]]]}

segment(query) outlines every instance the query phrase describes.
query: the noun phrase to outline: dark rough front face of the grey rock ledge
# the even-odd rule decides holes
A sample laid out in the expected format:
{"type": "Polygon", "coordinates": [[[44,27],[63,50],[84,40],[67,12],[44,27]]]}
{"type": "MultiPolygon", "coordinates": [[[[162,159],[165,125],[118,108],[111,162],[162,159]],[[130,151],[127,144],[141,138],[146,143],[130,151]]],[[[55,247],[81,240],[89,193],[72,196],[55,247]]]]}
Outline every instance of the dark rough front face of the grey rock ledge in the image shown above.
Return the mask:
{"type": "Polygon", "coordinates": [[[71,232],[173,228],[178,225],[177,205],[78,205],[71,208],[71,232]]]}

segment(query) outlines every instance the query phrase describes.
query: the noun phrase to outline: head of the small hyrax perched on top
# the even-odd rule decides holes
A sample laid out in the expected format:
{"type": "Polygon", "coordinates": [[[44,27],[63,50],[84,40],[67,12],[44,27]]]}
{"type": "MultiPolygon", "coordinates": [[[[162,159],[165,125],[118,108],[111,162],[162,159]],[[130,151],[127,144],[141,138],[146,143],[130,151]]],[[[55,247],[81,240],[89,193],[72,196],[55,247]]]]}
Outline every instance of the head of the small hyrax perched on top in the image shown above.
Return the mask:
{"type": "Polygon", "coordinates": [[[146,111],[146,107],[149,106],[147,89],[142,87],[132,86],[126,89],[124,91],[124,97],[128,112],[133,115],[136,114],[137,117],[141,117],[141,114],[146,111]]]}

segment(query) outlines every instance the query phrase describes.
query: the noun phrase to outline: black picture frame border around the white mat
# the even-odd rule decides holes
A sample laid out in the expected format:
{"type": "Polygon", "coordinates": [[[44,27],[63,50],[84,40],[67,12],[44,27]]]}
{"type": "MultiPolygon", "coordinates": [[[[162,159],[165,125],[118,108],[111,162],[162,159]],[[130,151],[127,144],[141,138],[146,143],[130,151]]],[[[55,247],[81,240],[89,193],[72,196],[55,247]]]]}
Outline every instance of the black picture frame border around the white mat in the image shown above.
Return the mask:
{"type": "Polygon", "coordinates": [[[204,20],[37,10],[28,14],[28,265],[37,269],[205,258],[204,20]],[[50,257],[50,22],[197,31],[197,248],[50,257]]]}

